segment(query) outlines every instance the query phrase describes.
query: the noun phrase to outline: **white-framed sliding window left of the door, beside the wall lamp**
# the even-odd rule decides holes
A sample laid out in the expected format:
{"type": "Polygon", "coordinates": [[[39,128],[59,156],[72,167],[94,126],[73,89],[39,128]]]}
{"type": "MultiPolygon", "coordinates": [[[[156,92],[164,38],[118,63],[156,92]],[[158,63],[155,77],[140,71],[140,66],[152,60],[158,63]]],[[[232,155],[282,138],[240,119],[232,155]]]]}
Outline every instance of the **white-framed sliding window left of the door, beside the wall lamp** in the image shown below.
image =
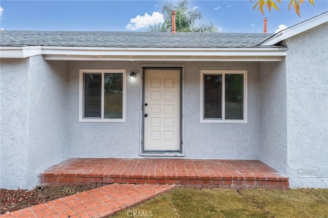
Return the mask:
{"type": "Polygon", "coordinates": [[[79,70],[79,122],[125,122],[126,70],[79,70]]]}

